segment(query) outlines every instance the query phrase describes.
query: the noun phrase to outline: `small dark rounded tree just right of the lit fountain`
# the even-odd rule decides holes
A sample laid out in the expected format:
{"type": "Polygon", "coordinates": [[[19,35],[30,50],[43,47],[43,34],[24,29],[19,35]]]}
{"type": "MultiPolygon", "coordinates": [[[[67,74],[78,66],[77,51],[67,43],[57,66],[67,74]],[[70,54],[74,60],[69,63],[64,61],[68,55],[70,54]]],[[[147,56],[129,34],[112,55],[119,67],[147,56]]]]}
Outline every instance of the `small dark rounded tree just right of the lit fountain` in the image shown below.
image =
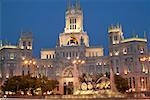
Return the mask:
{"type": "Polygon", "coordinates": [[[125,93],[126,90],[129,89],[128,80],[121,77],[120,75],[115,75],[114,77],[117,90],[121,93],[125,93]]]}

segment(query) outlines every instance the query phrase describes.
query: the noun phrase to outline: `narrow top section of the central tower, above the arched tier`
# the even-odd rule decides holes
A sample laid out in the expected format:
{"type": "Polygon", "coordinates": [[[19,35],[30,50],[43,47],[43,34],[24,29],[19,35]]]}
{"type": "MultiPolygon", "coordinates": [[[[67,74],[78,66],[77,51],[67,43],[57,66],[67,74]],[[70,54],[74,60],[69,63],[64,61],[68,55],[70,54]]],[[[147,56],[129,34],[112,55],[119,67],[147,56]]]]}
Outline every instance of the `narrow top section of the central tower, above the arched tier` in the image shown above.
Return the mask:
{"type": "Polygon", "coordinates": [[[71,5],[70,0],[68,0],[64,31],[65,33],[83,32],[83,12],[79,0],[76,1],[75,5],[71,5]]]}

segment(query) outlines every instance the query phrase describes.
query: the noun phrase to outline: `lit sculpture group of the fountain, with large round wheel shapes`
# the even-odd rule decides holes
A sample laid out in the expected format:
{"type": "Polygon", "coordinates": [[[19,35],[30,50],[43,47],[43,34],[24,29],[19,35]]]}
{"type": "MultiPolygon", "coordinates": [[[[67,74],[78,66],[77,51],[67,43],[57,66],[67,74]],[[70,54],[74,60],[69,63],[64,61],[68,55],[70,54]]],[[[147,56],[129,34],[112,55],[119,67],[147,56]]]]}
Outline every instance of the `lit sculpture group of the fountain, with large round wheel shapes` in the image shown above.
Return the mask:
{"type": "MultiPolygon", "coordinates": [[[[110,79],[106,76],[100,76],[95,79],[90,74],[83,74],[80,80],[80,89],[75,94],[92,94],[113,96],[115,92],[111,90],[110,79]]],[[[117,94],[118,95],[118,94],[117,94]]],[[[120,95],[120,94],[119,94],[120,95]]]]}

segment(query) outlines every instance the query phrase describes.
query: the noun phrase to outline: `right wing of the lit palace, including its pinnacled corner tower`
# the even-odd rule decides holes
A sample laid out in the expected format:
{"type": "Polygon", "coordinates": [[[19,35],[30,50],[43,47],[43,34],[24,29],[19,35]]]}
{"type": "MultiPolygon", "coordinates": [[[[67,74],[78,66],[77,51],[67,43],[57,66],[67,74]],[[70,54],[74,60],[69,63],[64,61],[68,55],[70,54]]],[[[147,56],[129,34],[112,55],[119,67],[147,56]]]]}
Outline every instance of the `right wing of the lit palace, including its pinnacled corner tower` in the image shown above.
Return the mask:
{"type": "Polygon", "coordinates": [[[137,35],[124,39],[121,25],[111,25],[109,33],[109,58],[114,72],[128,79],[129,91],[150,90],[150,62],[147,38],[137,35]],[[140,60],[141,59],[141,60],[140,60]]]}

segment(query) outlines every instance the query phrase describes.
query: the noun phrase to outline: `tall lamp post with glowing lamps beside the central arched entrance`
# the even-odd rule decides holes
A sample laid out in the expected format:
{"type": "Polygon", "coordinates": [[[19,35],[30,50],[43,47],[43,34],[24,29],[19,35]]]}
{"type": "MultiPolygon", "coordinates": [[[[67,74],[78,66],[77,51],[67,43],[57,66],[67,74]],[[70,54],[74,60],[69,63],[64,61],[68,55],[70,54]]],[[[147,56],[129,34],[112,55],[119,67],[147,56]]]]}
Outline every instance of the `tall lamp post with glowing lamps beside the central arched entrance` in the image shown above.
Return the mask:
{"type": "Polygon", "coordinates": [[[75,90],[78,90],[79,89],[79,70],[78,70],[78,66],[81,65],[81,64],[85,64],[85,61],[84,60],[81,60],[79,58],[77,58],[76,60],[73,60],[72,64],[74,65],[73,66],[73,75],[74,75],[74,82],[75,82],[75,90]]]}

